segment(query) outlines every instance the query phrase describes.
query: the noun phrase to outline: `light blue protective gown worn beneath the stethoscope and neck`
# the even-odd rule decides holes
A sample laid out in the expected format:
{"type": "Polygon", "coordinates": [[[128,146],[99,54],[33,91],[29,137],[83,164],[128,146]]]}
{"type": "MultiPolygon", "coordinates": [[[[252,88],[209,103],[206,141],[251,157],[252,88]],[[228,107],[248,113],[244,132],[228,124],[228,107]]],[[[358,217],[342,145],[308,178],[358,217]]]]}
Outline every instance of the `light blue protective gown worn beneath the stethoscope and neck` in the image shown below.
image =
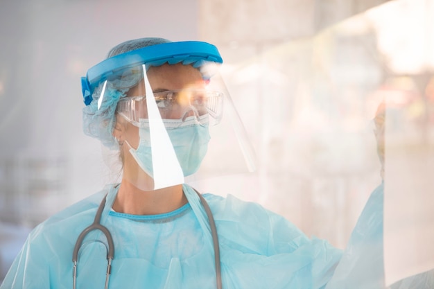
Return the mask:
{"type": "MultiPolygon", "coordinates": [[[[112,208],[117,189],[64,209],[37,226],[12,264],[1,289],[72,288],[72,252],[104,195],[101,224],[114,239],[109,288],[216,288],[209,222],[198,195],[184,185],[189,204],[171,213],[132,216],[112,208]]],[[[205,194],[216,221],[224,289],[324,288],[341,257],[325,240],[307,238],[259,204],[205,194]]],[[[77,288],[104,288],[106,240],[85,238],[78,255],[77,288]]]]}

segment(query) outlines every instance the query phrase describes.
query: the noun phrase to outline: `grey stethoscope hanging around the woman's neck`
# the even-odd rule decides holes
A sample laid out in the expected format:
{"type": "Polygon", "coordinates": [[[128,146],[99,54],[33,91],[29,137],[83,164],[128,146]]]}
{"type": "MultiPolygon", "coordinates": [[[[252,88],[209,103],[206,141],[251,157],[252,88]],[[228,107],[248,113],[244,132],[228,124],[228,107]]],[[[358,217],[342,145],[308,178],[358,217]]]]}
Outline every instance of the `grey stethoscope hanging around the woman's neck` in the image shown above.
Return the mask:
{"type": "MultiPolygon", "coordinates": [[[[196,189],[193,190],[196,191],[196,189]]],[[[205,200],[205,198],[203,198],[198,191],[196,191],[196,193],[198,194],[200,202],[202,203],[202,206],[205,209],[205,212],[207,213],[209,227],[211,228],[212,241],[214,245],[214,262],[216,265],[216,284],[217,284],[217,289],[222,289],[222,279],[221,279],[221,271],[220,271],[220,249],[218,247],[218,235],[216,229],[216,222],[214,222],[214,217],[212,216],[211,209],[209,209],[209,205],[205,200]]],[[[102,231],[103,234],[105,235],[105,238],[107,238],[108,250],[107,250],[107,272],[105,275],[105,289],[108,288],[110,273],[112,271],[112,260],[114,259],[114,244],[113,244],[112,234],[110,234],[110,231],[107,229],[107,227],[101,225],[101,216],[103,215],[103,210],[105,207],[106,200],[107,200],[107,195],[105,195],[105,197],[101,201],[101,204],[99,204],[98,210],[96,211],[95,214],[94,222],[92,223],[92,225],[90,225],[80,233],[80,235],[77,238],[76,245],[74,246],[73,253],[72,253],[72,262],[73,262],[72,288],[73,289],[76,289],[78,250],[80,249],[85,236],[89,234],[90,231],[94,231],[94,230],[102,231]]]]}

